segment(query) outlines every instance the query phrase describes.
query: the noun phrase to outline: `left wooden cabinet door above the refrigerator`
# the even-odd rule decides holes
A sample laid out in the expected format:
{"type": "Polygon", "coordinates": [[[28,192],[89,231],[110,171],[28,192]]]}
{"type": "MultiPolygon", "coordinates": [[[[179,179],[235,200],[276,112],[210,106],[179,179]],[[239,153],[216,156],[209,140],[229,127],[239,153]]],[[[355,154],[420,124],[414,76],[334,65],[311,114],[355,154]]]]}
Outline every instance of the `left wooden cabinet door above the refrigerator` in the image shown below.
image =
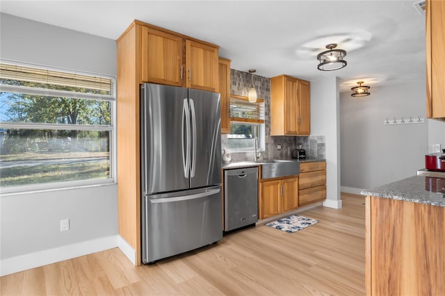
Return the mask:
{"type": "Polygon", "coordinates": [[[143,26],[142,81],[184,86],[183,48],[181,37],[143,26]]]}

